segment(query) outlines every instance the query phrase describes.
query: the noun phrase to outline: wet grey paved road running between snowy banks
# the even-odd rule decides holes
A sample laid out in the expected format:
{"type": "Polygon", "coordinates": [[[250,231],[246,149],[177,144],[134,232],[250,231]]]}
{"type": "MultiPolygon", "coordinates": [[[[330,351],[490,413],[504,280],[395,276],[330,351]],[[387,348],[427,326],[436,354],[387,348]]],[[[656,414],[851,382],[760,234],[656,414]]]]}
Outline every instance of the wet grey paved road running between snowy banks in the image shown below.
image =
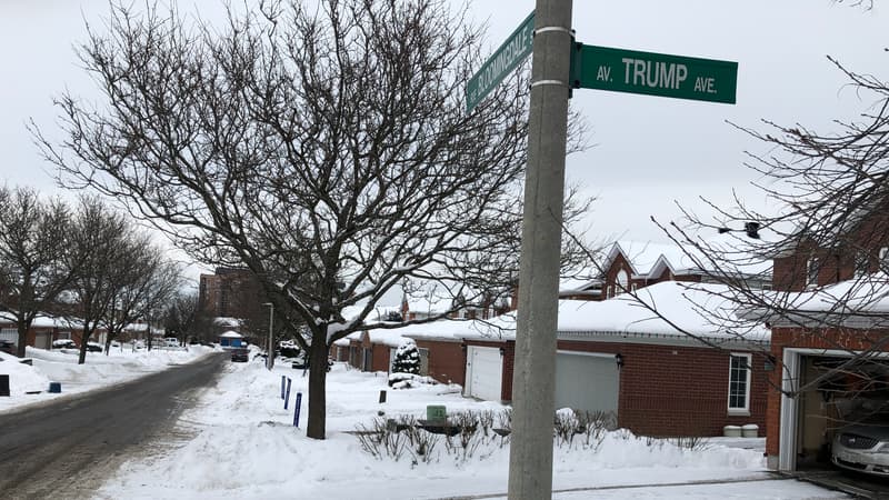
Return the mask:
{"type": "Polygon", "coordinates": [[[0,497],[88,498],[128,454],[172,432],[216,381],[222,354],[0,416],[0,497]]]}

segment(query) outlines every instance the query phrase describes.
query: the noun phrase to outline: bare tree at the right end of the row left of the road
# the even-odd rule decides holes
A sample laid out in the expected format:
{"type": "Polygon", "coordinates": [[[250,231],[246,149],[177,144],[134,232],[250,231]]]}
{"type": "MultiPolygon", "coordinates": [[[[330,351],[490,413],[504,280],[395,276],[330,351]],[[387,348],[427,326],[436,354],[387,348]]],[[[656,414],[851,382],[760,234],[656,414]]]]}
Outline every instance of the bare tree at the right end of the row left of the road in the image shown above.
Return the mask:
{"type": "Polygon", "coordinates": [[[108,329],[106,353],[128,324],[169,303],[182,281],[180,267],[148,236],[124,234],[119,244],[122,252],[108,282],[111,303],[102,318],[108,329]]]}

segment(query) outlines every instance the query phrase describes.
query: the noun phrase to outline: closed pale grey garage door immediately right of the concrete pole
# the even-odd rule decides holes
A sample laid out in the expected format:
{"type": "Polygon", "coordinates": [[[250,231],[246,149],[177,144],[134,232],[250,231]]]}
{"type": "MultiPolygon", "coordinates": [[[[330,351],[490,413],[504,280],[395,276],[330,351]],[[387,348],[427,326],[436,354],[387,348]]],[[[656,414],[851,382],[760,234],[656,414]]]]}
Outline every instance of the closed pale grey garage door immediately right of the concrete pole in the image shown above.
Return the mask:
{"type": "Polygon", "coordinates": [[[617,412],[619,373],[615,354],[559,351],[556,408],[617,412]]]}

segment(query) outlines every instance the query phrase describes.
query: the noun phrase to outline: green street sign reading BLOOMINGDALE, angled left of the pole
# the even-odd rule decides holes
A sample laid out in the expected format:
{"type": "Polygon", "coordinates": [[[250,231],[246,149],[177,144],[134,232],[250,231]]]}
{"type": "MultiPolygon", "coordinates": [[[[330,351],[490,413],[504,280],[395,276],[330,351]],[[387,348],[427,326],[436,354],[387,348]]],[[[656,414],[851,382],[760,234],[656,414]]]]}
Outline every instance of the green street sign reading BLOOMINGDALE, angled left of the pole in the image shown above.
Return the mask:
{"type": "Polygon", "coordinates": [[[535,33],[535,13],[531,12],[507,41],[485,61],[481,69],[469,79],[466,86],[466,110],[472,111],[488,93],[503,81],[507,74],[531,54],[535,33]]]}

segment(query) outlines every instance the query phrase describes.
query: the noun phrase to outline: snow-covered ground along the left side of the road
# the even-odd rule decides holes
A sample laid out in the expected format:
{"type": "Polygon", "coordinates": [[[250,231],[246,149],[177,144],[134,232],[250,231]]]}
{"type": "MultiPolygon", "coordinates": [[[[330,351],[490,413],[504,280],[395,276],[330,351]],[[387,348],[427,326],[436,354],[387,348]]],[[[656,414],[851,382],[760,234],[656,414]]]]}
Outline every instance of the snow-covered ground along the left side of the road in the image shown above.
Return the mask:
{"type": "Polygon", "coordinates": [[[144,377],[173,364],[189,362],[211,352],[211,348],[189,346],[179,349],[133,350],[129,344],[103,352],[87,352],[87,362],[78,364],[74,349],[43,350],[27,348],[32,366],[0,352],[0,374],[9,376],[10,397],[0,398],[0,412],[53,398],[84,392],[144,377]],[[60,393],[50,393],[49,382],[61,384],[60,393]],[[31,392],[31,393],[29,393],[31,392]]]}

